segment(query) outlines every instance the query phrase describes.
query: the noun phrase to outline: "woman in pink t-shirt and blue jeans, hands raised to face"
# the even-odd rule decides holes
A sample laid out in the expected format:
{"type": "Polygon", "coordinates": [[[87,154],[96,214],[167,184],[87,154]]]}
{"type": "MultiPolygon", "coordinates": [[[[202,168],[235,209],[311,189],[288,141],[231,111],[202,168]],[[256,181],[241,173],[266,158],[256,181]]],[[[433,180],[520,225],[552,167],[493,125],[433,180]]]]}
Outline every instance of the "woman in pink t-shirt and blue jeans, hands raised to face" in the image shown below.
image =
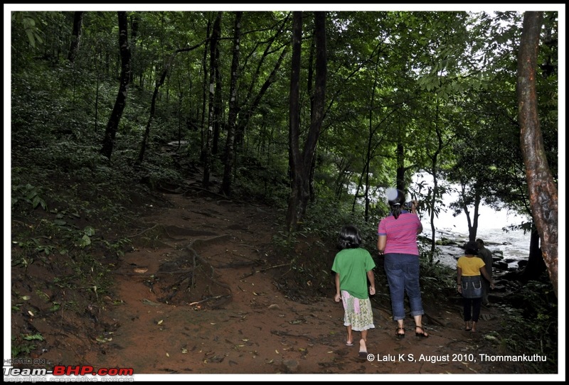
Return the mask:
{"type": "Polygon", "coordinates": [[[405,193],[401,190],[388,191],[391,213],[381,219],[378,225],[378,251],[385,255],[384,269],[391,295],[393,320],[397,321],[395,335],[405,337],[405,293],[409,298],[411,315],[415,320],[415,335],[428,337],[422,326],[421,289],[419,286],[419,248],[417,234],[422,224],[417,215],[417,201],[405,207],[405,193]],[[396,192],[396,193],[395,193],[396,192]],[[410,211],[409,211],[410,209],[410,211]]]}

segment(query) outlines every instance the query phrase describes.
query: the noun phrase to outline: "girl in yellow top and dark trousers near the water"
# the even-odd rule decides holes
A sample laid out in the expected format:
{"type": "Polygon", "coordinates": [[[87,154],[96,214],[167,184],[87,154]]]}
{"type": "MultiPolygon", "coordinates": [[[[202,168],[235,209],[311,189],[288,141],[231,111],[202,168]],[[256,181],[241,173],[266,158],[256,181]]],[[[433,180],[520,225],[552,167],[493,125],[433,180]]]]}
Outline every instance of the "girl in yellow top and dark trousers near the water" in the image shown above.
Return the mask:
{"type": "Polygon", "coordinates": [[[482,305],[481,274],[490,282],[490,288],[494,288],[494,281],[486,273],[484,261],[477,255],[478,244],[476,242],[468,242],[464,246],[464,254],[457,262],[458,292],[464,298],[464,330],[476,332],[476,322],[478,322],[482,305]]]}

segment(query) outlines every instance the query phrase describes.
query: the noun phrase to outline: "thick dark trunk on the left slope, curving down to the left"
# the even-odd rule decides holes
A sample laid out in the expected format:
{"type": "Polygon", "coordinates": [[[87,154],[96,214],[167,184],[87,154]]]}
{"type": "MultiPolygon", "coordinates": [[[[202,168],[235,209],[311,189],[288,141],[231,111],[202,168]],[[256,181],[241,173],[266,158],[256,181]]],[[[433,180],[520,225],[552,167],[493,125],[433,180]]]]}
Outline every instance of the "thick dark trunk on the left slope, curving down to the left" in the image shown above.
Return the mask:
{"type": "Polygon", "coordinates": [[[124,111],[124,106],[127,102],[127,92],[130,78],[130,50],[127,33],[127,13],[122,11],[117,13],[119,16],[119,48],[121,60],[120,85],[119,93],[117,94],[117,100],[115,101],[115,107],[113,107],[109,122],[107,123],[107,129],[105,129],[105,137],[102,140],[102,148],[100,150],[100,153],[102,153],[102,155],[106,156],[108,159],[111,158],[112,148],[115,144],[115,136],[117,135],[120,118],[122,116],[122,112],[124,111]]]}

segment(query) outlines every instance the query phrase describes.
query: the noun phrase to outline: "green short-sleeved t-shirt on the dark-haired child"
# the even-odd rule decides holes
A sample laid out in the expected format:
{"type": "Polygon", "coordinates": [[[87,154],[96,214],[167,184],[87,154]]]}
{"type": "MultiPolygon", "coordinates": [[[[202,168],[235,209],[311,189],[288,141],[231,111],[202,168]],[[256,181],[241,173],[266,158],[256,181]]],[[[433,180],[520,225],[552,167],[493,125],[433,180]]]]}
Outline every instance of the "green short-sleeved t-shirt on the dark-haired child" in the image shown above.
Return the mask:
{"type": "Polygon", "coordinates": [[[332,271],[340,274],[340,290],[356,298],[368,298],[367,272],[376,267],[366,249],[344,249],[336,254],[332,271]]]}

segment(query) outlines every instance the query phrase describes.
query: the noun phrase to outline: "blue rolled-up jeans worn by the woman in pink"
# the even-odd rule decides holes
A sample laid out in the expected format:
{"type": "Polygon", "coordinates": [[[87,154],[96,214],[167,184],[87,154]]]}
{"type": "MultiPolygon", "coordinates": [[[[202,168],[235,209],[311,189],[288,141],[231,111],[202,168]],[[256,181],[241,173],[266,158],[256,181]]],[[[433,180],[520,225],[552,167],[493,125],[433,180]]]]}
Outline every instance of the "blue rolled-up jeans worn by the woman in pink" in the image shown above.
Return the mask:
{"type": "Polygon", "coordinates": [[[389,292],[393,320],[405,319],[405,293],[409,298],[411,315],[423,315],[421,289],[419,286],[419,256],[413,254],[385,254],[383,264],[389,292]]]}

